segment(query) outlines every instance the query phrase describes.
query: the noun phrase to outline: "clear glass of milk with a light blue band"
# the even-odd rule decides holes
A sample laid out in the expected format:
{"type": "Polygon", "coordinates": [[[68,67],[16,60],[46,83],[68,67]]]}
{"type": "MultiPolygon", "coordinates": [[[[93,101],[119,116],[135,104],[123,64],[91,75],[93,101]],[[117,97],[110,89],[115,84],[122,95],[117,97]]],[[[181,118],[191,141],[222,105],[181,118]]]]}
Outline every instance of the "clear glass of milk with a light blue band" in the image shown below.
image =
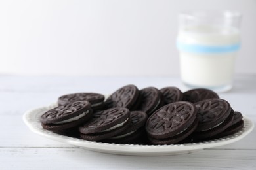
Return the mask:
{"type": "Polygon", "coordinates": [[[190,88],[224,92],[232,88],[240,48],[238,12],[187,11],[179,14],[177,48],[181,80],[190,88]]]}

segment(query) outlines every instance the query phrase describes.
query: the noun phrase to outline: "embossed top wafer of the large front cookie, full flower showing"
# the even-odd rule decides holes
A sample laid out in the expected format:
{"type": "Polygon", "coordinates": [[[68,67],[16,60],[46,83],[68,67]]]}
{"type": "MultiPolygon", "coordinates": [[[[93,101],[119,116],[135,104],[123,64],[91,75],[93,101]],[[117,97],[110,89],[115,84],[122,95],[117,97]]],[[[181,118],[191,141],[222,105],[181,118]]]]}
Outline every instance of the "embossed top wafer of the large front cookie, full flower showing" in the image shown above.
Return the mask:
{"type": "Polygon", "coordinates": [[[196,120],[196,107],[187,101],[170,103],[156,110],[146,122],[146,132],[154,139],[173,137],[196,120]]]}

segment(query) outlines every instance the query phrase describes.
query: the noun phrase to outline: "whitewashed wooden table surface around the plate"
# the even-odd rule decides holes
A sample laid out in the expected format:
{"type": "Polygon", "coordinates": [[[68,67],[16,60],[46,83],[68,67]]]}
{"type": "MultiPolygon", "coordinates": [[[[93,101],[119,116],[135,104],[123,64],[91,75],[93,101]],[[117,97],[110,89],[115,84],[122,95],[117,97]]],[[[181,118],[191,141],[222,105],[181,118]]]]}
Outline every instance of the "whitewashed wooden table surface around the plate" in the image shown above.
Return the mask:
{"type": "MultiPolygon", "coordinates": [[[[109,94],[126,84],[177,86],[178,77],[83,77],[0,75],[0,169],[256,169],[256,130],[236,143],[175,156],[119,156],[93,152],[41,137],[22,121],[24,112],[49,105],[66,93],[109,94]]],[[[256,123],[256,75],[238,75],[219,93],[256,123]]]]}

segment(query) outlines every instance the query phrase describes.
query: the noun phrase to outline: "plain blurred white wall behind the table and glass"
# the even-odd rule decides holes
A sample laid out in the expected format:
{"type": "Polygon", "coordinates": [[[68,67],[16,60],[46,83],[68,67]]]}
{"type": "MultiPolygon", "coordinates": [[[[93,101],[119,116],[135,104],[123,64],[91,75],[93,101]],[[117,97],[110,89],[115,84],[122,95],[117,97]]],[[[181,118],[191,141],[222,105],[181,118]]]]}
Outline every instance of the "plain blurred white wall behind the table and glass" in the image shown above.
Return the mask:
{"type": "Polygon", "coordinates": [[[177,15],[237,10],[236,73],[256,73],[255,0],[0,1],[0,75],[179,75],[177,15]]]}

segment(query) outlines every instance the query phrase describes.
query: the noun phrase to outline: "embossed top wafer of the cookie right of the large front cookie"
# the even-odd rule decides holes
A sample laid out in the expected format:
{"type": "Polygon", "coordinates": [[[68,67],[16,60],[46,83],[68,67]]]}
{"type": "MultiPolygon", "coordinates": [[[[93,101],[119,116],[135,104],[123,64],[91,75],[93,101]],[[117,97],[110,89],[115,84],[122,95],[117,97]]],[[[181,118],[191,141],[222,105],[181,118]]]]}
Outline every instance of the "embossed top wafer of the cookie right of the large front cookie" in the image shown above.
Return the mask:
{"type": "Polygon", "coordinates": [[[217,126],[226,120],[232,110],[228,101],[223,99],[206,99],[195,105],[199,118],[196,131],[205,131],[217,126]]]}

